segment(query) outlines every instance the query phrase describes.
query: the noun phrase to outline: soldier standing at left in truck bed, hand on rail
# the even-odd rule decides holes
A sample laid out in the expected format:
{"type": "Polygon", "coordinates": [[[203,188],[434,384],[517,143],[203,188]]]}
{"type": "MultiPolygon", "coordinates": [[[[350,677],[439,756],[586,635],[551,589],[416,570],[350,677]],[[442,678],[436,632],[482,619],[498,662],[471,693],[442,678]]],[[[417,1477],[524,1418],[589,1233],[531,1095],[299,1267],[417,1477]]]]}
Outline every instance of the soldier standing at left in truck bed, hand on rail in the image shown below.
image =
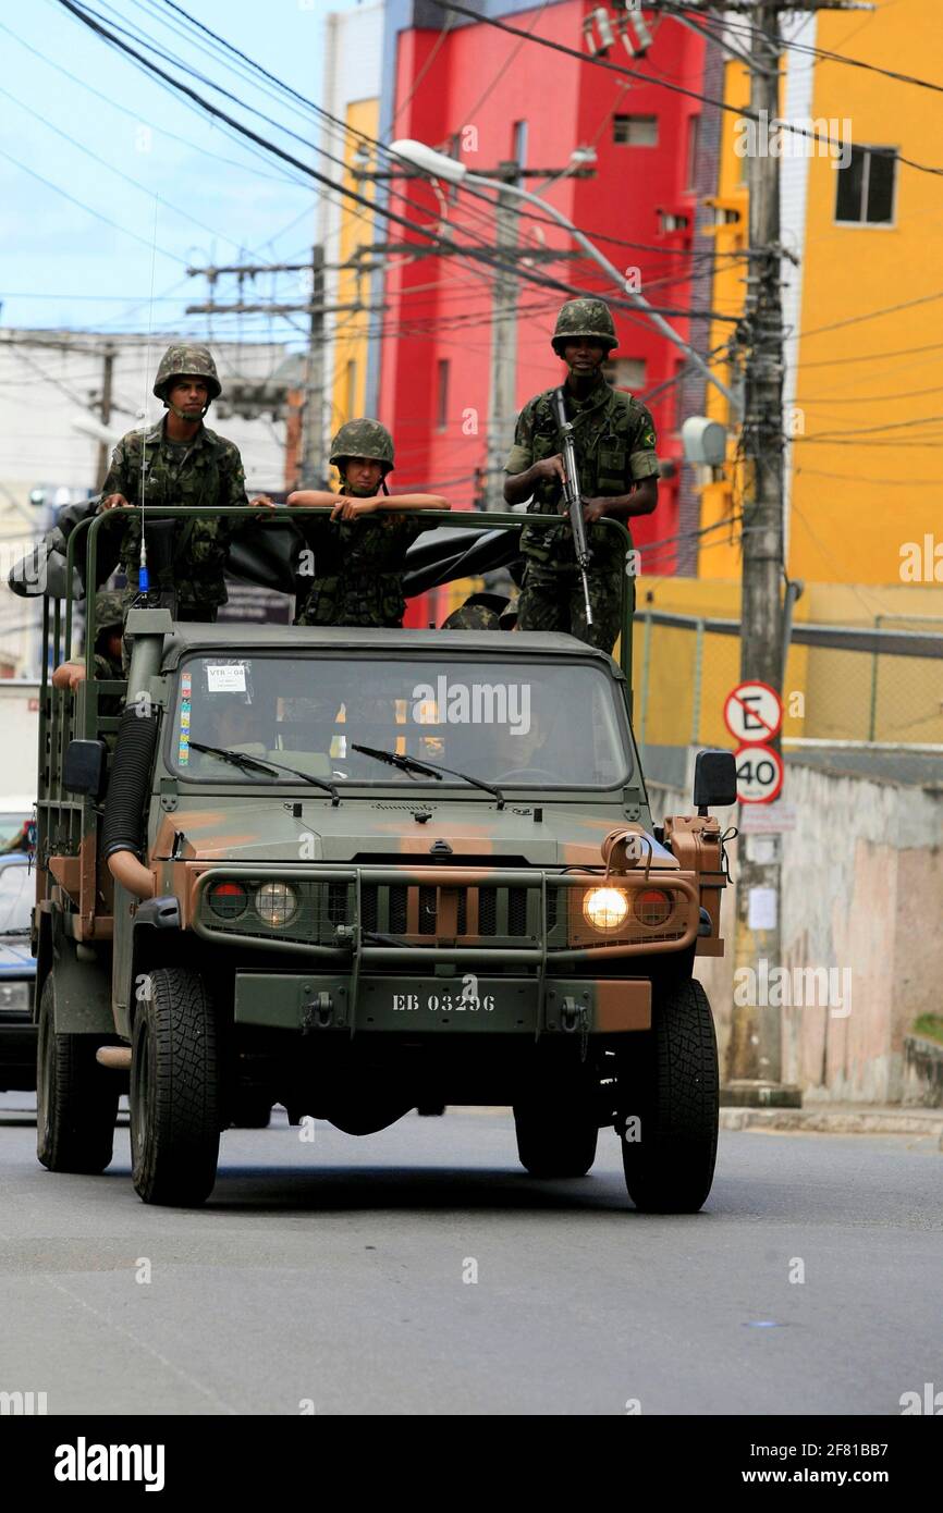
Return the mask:
{"type": "MultiPolygon", "coordinates": [[[[167,415],[153,430],[129,431],[121,437],[101,487],[98,508],[139,505],[142,486],[145,507],[192,504],[212,510],[247,505],[239,448],[203,424],[206,412],[221,392],[216,365],[207,346],[168,346],[154,378],[154,393],[163,401],[167,415]]],[[[272,507],[271,499],[265,498],[251,502],[272,507]]],[[[223,570],[229,543],[233,536],[256,530],[257,523],[254,516],[245,522],[235,516],[195,516],[192,520],[173,522],[173,531],[163,537],[168,549],[162,554],[163,560],[156,563],[151,587],[176,593],[177,619],[216,619],[216,610],[227,599],[223,570]]],[[[151,534],[154,543],[157,539],[156,525],[157,522],[148,527],[145,519],[148,551],[151,534]]],[[[118,552],[127,576],[127,607],[139,592],[139,510],[124,522],[118,552]]]]}

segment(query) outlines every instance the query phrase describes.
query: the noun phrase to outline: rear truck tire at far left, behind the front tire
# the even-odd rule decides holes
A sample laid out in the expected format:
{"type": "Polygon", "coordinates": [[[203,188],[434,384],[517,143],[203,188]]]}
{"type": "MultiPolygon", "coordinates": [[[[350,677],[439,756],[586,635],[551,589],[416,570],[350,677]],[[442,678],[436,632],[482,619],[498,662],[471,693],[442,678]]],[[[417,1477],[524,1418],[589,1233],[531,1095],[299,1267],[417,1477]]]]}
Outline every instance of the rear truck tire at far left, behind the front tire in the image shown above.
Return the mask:
{"type": "Polygon", "coordinates": [[[36,1156],[48,1171],[97,1176],[112,1159],[121,1083],[95,1061],[94,1035],[56,1033],[53,973],[36,1036],[36,1156]]]}

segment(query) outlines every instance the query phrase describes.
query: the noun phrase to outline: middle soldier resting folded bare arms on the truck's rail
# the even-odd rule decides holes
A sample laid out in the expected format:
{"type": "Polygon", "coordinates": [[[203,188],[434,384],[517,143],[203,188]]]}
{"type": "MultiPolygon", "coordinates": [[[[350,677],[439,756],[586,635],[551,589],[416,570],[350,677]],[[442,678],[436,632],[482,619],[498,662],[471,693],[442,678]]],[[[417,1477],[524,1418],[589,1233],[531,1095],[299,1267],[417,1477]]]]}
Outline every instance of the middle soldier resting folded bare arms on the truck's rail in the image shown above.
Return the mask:
{"type": "Polygon", "coordinates": [[[313,575],[307,596],[298,596],[295,625],[401,626],[406,549],[436,522],[424,525],[398,511],[448,510],[448,501],[434,493],[389,495],[394,439],[378,421],[342,425],[330,460],[341,474],[341,498],[315,489],[288,496],[297,508],[330,507],[330,516],[301,525],[313,575]]]}

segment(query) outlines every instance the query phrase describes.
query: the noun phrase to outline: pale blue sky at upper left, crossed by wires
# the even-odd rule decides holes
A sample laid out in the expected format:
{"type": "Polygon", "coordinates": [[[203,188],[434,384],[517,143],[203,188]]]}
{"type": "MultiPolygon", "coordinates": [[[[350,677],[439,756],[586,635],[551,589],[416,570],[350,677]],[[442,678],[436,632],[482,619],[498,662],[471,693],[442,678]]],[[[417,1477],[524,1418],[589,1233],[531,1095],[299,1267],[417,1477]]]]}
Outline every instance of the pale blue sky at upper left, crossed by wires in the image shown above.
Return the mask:
{"type": "MultiPolygon", "coordinates": [[[[182,9],[318,101],[324,18],[356,3],[192,0],[182,9]]],[[[188,80],[260,135],[324,168],[307,145],[319,141],[315,118],[280,91],[272,97],[248,83],[236,71],[238,61],[216,59],[209,39],[206,47],[192,39],[168,0],[88,5],[103,24],[145,32],[221,82],[241,106],[188,80]],[[247,104],[304,141],[251,117],[247,104]]],[[[188,278],[188,266],[310,256],[316,186],[294,182],[288,165],[233,141],[204,112],[89,32],[59,0],[0,8],[0,330],[176,334],[194,324],[183,316],[185,306],[206,300],[206,280],[188,278]]],[[[263,298],[274,289],[271,277],[257,284],[263,298]]],[[[283,298],[304,298],[301,281],[292,289],[289,275],[282,275],[277,289],[283,298]]],[[[233,297],[235,284],[221,283],[218,298],[233,297]]],[[[232,339],[301,340],[298,328],[268,318],[244,318],[242,331],[236,318],[218,319],[215,331],[232,339]]]]}

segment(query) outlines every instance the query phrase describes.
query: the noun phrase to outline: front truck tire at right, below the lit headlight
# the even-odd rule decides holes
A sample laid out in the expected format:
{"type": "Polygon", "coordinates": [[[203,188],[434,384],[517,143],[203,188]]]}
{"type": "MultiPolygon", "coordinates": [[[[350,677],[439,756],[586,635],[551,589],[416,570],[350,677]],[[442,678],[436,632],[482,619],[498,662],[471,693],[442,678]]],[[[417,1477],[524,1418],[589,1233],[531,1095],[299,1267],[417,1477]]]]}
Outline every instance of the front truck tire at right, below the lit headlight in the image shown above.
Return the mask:
{"type": "Polygon", "coordinates": [[[631,1042],[619,1073],[628,1195],[643,1212],[696,1213],[714,1176],[720,1091],[714,1021],[701,983],[666,990],[652,1003],[651,1030],[631,1042]],[[627,1127],[630,1120],[637,1124],[627,1127]]]}

